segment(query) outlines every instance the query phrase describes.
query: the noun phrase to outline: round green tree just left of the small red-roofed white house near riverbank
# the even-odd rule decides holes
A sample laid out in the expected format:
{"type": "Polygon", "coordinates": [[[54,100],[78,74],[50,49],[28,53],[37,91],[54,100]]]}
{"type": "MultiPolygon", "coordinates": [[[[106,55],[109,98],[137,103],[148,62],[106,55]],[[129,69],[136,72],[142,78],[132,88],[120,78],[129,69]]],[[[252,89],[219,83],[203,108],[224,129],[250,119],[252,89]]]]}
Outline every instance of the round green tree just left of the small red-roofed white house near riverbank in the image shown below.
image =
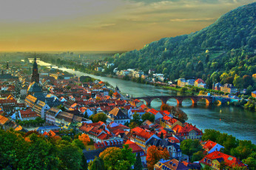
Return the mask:
{"type": "Polygon", "coordinates": [[[198,151],[201,151],[203,148],[199,140],[186,139],[181,142],[181,150],[183,154],[189,155],[192,157],[198,151]]]}

